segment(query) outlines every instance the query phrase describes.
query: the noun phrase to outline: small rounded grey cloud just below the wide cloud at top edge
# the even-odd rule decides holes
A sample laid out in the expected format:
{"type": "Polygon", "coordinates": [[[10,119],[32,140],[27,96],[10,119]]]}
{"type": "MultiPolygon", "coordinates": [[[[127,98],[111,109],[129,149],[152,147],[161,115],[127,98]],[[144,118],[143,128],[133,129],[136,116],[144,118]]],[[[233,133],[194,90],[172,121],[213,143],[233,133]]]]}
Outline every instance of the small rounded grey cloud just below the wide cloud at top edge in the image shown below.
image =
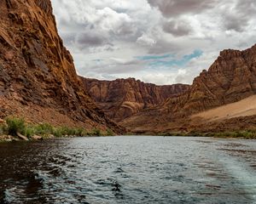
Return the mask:
{"type": "Polygon", "coordinates": [[[170,20],[163,23],[163,30],[171,33],[175,37],[187,36],[192,31],[188,22],[179,20],[170,20]]]}

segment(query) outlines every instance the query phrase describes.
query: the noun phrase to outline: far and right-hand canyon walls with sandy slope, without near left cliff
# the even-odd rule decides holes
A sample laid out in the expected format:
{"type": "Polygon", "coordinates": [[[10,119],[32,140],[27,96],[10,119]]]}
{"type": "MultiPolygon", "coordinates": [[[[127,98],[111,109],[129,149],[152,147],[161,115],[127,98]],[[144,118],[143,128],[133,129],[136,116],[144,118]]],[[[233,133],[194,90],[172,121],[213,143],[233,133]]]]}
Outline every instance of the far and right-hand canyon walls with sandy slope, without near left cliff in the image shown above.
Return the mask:
{"type": "Polygon", "coordinates": [[[131,133],[231,131],[253,128],[256,122],[256,45],[220,52],[192,85],[157,86],[134,78],[81,80],[106,115],[131,133]]]}

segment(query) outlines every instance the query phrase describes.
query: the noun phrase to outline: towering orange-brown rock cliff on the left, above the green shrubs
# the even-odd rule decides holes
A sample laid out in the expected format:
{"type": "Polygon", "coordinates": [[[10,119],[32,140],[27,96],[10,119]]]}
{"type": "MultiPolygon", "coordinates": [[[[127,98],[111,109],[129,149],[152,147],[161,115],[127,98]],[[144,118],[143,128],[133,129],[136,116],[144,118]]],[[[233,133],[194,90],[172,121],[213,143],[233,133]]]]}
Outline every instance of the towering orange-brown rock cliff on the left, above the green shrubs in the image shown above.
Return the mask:
{"type": "Polygon", "coordinates": [[[49,0],[0,1],[0,116],[116,128],[84,92],[49,0]]]}

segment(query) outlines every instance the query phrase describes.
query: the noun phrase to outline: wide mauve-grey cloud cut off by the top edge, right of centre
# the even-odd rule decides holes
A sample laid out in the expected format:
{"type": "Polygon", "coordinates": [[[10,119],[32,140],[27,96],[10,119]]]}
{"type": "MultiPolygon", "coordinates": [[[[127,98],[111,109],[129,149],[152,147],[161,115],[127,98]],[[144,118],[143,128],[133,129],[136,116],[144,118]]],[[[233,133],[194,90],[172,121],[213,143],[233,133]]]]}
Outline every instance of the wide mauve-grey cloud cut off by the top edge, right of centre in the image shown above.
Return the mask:
{"type": "Polygon", "coordinates": [[[148,3],[160,9],[166,17],[182,14],[197,14],[208,8],[213,8],[217,0],[148,0],[148,3]]]}

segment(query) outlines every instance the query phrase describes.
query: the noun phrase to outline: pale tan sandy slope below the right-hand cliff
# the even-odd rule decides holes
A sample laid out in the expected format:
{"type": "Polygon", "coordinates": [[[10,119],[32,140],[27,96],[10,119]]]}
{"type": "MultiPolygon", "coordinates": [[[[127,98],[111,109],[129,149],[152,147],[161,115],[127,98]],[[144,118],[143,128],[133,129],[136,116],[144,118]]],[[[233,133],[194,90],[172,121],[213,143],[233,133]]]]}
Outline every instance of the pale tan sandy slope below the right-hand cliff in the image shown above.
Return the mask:
{"type": "Polygon", "coordinates": [[[223,105],[209,111],[203,111],[191,117],[201,117],[209,121],[217,121],[238,116],[253,115],[256,115],[256,95],[250,96],[247,99],[242,99],[236,103],[223,105]]]}

